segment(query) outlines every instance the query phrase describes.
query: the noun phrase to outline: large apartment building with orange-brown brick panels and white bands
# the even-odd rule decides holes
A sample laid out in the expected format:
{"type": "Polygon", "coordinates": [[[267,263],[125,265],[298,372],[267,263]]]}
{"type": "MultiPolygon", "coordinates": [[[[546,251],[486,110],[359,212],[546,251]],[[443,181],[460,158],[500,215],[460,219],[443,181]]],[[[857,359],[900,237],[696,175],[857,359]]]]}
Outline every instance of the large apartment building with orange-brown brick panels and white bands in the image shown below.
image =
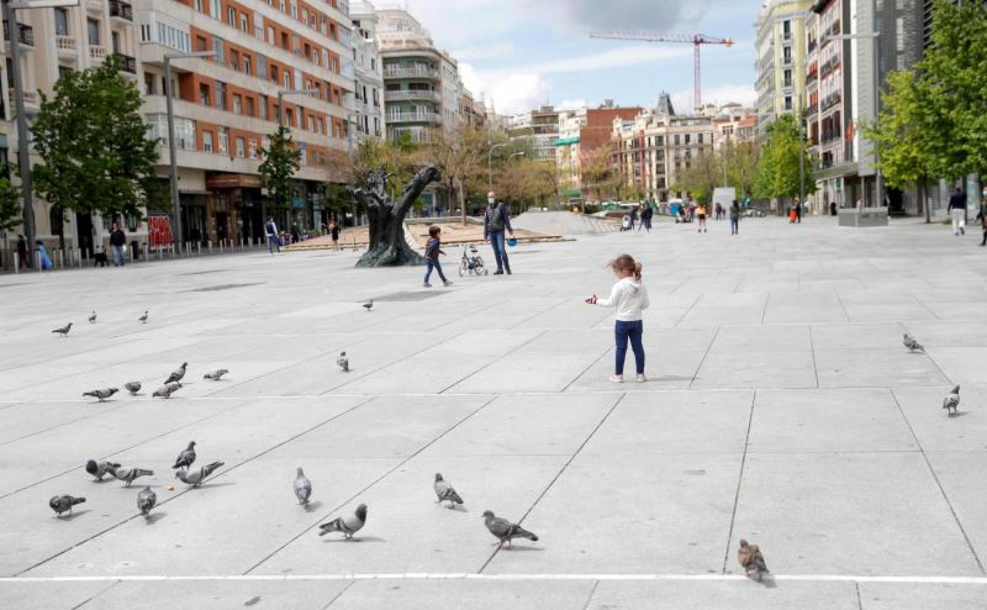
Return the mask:
{"type": "MultiPolygon", "coordinates": [[[[89,0],[87,0],[89,1],[89,0]]],[[[137,0],[143,113],[162,138],[167,176],[166,54],[172,61],[185,239],[260,239],[272,215],[301,231],[322,224],[321,186],[343,180],[346,109],[353,94],[348,6],[342,0],[137,0]],[[279,116],[278,92],[284,96],[279,116]],[[289,209],[268,210],[260,151],[278,120],[301,151],[289,209]]],[[[167,210],[148,210],[154,216],[167,210]]]]}

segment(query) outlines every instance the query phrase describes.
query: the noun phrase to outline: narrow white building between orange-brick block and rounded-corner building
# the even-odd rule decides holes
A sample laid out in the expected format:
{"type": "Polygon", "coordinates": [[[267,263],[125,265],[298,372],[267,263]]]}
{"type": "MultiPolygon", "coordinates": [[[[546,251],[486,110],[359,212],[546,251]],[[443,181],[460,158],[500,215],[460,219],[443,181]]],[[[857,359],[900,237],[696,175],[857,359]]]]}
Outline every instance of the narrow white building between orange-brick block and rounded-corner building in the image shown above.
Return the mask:
{"type": "MultiPolygon", "coordinates": [[[[377,50],[377,10],[369,2],[353,2],[349,5],[352,22],[353,65],[355,86],[350,121],[353,135],[383,139],[384,122],[384,67],[377,50]]],[[[357,141],[347,141],[355,146],[357,141]]]]}

